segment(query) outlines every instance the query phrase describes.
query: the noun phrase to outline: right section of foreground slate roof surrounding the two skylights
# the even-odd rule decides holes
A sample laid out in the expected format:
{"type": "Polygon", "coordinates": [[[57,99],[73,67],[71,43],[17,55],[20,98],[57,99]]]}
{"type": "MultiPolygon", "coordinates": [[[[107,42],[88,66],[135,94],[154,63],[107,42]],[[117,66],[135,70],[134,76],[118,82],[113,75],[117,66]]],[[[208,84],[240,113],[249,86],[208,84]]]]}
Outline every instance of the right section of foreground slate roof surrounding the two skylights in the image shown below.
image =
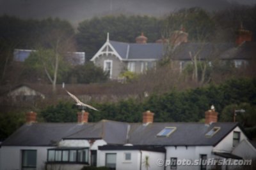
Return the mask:
{"type": "Polygon", "coordinates": [[[134,145],[211,145],[214,146],[228,132],[232,131],[237,123],[154,123],[147,126],[132,126],[129,143],[134,145]],[[177,129],[169,137],[157,137],[164,127],[176,127],[177,129]],[[221,127],[211,138],[205,137],[213,127],[221,127]]]}

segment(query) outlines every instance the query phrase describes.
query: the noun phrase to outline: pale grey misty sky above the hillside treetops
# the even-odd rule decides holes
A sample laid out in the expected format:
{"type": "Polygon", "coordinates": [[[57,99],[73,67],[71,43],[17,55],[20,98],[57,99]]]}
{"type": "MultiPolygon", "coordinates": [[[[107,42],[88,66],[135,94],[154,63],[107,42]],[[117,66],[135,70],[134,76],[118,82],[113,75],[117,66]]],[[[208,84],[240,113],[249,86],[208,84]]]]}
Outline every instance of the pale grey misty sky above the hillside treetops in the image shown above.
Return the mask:
{"type": "Polygon", "coordinates": [[[255,4],[255,0],[0,0],[0,15],[21,18],[60,17],[72,24],[104,15],[162,16],[173,10],[200,6],[223,10],[234,2],[255,4]]]}

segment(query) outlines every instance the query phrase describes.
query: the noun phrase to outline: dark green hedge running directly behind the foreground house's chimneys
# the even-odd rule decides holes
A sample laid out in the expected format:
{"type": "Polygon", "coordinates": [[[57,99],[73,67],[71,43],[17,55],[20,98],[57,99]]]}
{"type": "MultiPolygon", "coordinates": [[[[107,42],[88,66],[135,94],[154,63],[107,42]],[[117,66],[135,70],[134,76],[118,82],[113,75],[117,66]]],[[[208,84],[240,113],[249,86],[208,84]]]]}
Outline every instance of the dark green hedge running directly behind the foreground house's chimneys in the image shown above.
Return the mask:
{"type": "MultiPolygon", "coordinates": [[[[150,110],[155,113],[154,122],[202,122],[204,113],[214,104],[219,113],[220,122],[233,122],[234,110],[244,109],[237,113],[236,121],[250,128],[255,136],[256,125],[256,79],[231,79],[220,85],[210,84],[179,92],[173,89],[165,94],[153,94],[144,101],[126,99],[118,103],[90,103],[100,111],[88,110],[89,121],[102,119],[122,122],[141,122],[142,113],[150,110]]],[[[38,110],[39,122],[76,122],[79,109],[68,101],[38,110]]],[[[17,127],[24,123],[21,111],[1,112],[1,136],[6,138],[17,127]],[[15,121],[13,120],[15,119],[15,121]]]]}

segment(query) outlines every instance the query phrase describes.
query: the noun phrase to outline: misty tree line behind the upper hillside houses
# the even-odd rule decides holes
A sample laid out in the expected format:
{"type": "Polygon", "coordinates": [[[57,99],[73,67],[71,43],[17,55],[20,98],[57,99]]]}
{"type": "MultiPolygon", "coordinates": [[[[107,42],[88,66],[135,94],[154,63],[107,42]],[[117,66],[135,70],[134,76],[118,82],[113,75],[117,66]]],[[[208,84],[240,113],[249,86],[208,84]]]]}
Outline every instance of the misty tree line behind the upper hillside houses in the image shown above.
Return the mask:
{"type": "MultiPolygon", "coordinates": [[[[229,10],[216,12],[189,8],[161,18],[125,15],[95,17],[81,22],[77,30],[67,20],[59,18],[22,20],[4,15],[0,17],[1,83],[12,77],[16,77],[17,82],[22,81],[20,70],[18,73],[8,74],[12,73],[12,68],[15,67],[11,66],[14,48],[49,50],[56,47],[57,43],[54,45],[53,42],[58,39],[72,39],[68,43],[70,47],[72,46],[74,51],[86,52],[86,60],[90,60],[106,41],[107,32],[110,33],[111,40],[131,43],[135,41],[136,36],[144,32],[148,42],[152,43],[161,37],[169,38],[172,31],[182,28],[188,32],[189,41],[234,42],[240,25],[256,35],[255,8],[256,6],[232,6],[229,10]]],[[[63,40],[61,42],[63,43],[63,40]]],[[[65,74],[67,75],[67,72],[65,74]]],[[[28,74],[25,77],[31,76],[28,74]]],[[[56,81],[64,81],[61,77],[63,76],[56,81]]]]}

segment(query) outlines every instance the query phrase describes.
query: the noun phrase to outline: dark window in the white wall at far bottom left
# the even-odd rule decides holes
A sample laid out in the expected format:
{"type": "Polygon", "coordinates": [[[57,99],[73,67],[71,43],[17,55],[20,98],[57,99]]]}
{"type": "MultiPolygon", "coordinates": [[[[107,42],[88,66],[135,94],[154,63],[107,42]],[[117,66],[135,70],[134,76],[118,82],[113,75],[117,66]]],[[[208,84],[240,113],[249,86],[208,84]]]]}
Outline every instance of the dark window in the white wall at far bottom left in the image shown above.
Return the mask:
{"type": "Polygon", "coordinates": [[[22,169],[36,169],[36,150],[22,150],[22,169]]]}

